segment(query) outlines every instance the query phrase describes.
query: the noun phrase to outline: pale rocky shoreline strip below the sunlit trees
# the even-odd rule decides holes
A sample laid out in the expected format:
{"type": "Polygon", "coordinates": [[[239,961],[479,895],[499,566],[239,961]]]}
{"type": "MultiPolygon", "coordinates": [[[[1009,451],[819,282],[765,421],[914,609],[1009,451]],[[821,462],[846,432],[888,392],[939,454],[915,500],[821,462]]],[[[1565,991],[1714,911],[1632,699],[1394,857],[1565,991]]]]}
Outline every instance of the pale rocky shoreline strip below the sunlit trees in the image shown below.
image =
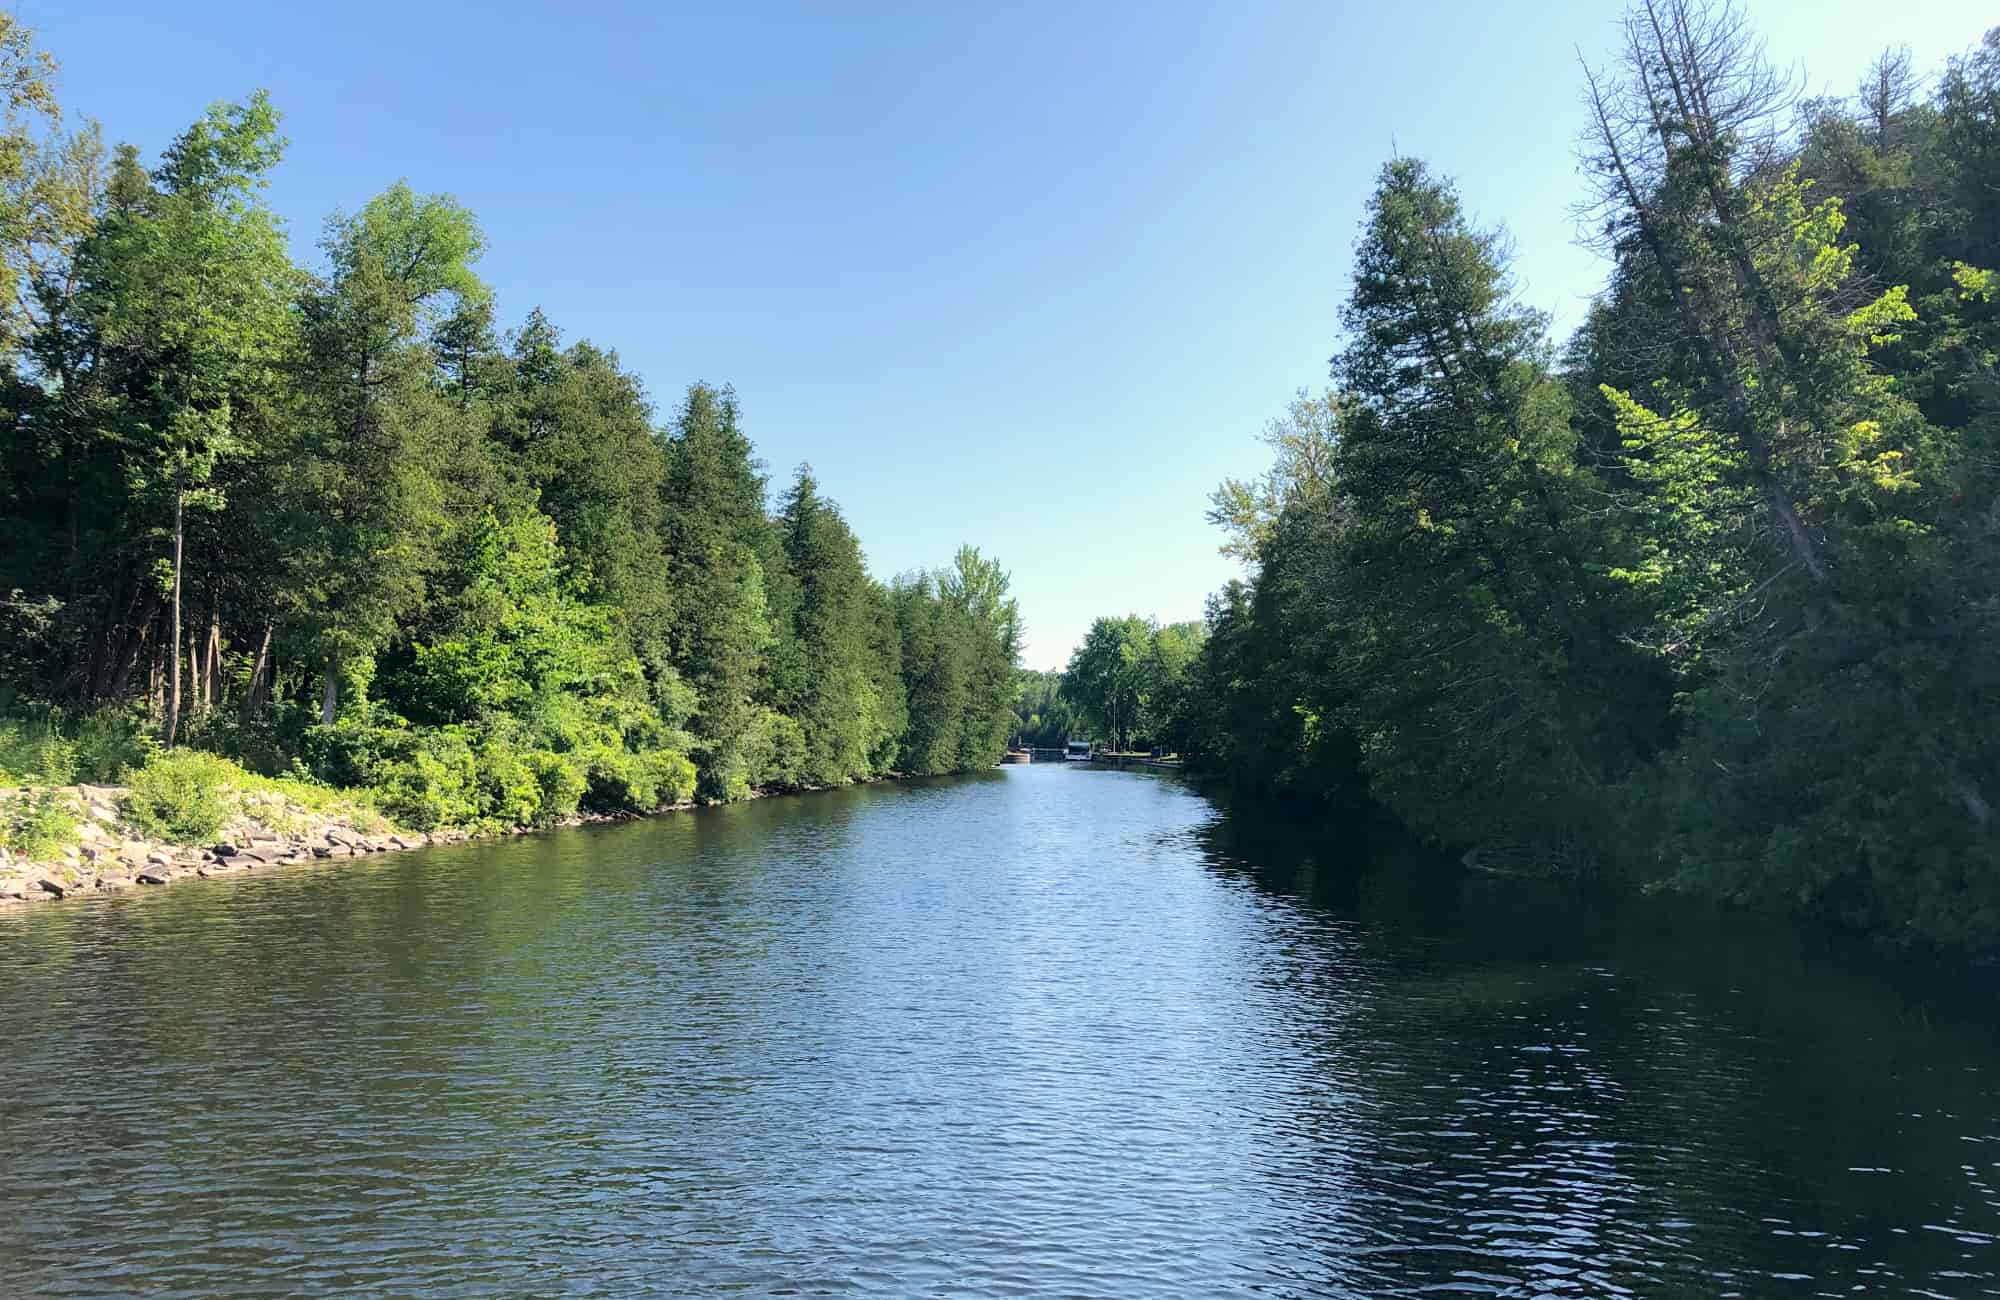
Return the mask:
{"type": "MultiPolygon", "coordinates": [[[[58,788],[56,796],[68,800],[76,816],[76,844],[52,860],[34,862],[0,848],[0,908],[544,830],[540,826],[498,832],[388,830],[372,822],[362,824],[356,818],[314,814],[298,804],[264,802],[230,818],[212,844],[190,848],[136,836],[118,812],[124,794],[120,786],[58,788]]],[[[662,812],[692,806],[674,804],[662,812]]],[[[576,814],[556,826],[618,820],[630,820],[630,816],[576,814]]]]}

